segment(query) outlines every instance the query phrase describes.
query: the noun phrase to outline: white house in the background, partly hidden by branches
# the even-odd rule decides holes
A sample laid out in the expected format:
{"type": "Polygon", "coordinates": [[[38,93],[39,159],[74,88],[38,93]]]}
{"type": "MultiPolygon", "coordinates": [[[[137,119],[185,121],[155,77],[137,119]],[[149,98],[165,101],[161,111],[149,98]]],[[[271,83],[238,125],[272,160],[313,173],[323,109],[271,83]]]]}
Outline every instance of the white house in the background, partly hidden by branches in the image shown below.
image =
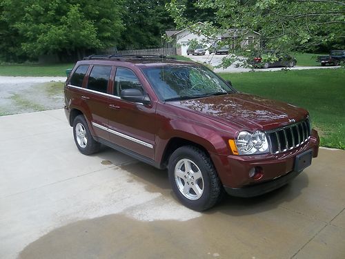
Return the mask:
{"type": "MultiPolygon", "coordinates": [[[[203,24],[204,23],[201,22],[195,23],[196,26],[202,26],[203,24]]],[[[214,42],[210,39],[207,39],[207,37],[202,34],[197,35],[193,32],[190,32],[188,28],[184,28],[183,30],[167,30],[166,35],[173,38],[172,43],[168,44],[167,47],[176,46],[177,55],[187,55],[188,44],[192,40],[197,40],[198,42],[207,42],[206,46],[208,47],[214,42]]],[[[237,44],[240,44],[242,48],[245,48],[245,46],[253,43],[255,43],[255,46],[257,47],[260,46],[260,34],[258,32],[247,32],[246,35],[244,35],[244,40],[241,42],[237,42],[238,37],[238,30],[229,29],[223,35],[217,36],[217,40],[221,41],[230,38],[230,48],[235,48],[238,46],[237,44]]]]}

